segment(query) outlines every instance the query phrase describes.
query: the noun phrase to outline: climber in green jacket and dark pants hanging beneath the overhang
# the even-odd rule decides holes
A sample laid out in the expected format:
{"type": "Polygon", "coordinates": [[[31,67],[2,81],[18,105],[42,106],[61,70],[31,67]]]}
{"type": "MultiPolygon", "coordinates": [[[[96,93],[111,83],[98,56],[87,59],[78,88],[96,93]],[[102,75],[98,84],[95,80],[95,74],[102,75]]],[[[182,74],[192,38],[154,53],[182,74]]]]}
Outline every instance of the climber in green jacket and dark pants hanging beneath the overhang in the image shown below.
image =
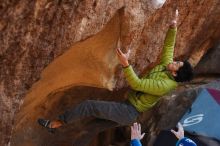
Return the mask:
{"type": "Polygon", "coordinates": [[[54,131],[63,124],[93,116],[114,121],[119,125],[130,125],[136,121],[141,112],[152,108],[161,96],[175,89],[177,82],[190,81],[193,76],[191,65],[187,61],[173,61],[177,18],[176,10],[165,38],[161,62],[143,78],[139,78],[129,65],[128,54],[122,53],[119,47],[116,49],[125,78],[133,89],[128,95],[128,100],[125,102],[86,100],[60,115],[57,120],[38,119],[38,123],[49,131],[54,131]]]}

